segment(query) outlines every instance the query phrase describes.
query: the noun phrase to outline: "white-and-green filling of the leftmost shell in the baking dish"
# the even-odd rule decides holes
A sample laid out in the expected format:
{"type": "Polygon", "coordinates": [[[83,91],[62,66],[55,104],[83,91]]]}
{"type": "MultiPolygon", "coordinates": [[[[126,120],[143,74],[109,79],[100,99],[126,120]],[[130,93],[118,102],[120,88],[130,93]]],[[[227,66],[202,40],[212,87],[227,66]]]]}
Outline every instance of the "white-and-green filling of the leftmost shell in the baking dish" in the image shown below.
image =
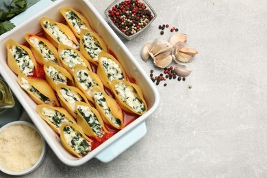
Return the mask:
{"type": "Polygon", "coordinates": [[[13,58],[16,60],[16,63],[18,64],[21,71],[26,76],[32,75],[32,73],[34,72],[34,62],[32,62],[27,51],[25,51],[21,47],[12,45],[10,52],[12,53],[13,58]]]}

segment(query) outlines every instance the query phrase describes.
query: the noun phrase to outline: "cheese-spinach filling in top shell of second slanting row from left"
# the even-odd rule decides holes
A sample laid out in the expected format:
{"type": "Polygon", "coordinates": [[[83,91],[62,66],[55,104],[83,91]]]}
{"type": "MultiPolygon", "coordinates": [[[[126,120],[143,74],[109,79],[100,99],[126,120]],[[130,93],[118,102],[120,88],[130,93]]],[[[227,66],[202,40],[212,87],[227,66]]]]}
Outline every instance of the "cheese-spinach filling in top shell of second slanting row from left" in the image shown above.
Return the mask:
{"type": "Polygon", "coordinates": [[[36,49],[40,51],[40,53],[42,53],[45,61],[51,60],[53,62],[58,62],[55,58],[55,55],[52,53],[49,47],[47,47],[47,44],[44,44],[44,42],[38,40],[38,38],[34,36],[31,36],[31,38],[29,38],[29,42],[31,42],[31,44],[33,44],[34,47],[36,47],[36,49]]]}

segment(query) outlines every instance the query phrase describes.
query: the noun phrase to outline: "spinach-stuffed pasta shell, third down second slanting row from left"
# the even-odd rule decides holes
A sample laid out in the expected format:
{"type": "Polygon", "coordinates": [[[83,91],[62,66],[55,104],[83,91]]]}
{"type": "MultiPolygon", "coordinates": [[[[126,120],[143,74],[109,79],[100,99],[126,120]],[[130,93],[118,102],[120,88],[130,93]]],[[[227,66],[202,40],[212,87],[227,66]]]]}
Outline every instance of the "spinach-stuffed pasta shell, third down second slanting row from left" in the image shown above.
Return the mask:
{"type": "Polygon", "coordinates": [[[56,91],[58,97],[60,98],[60,104],[64,107],[74,118],[77,116],[77,112],[75,110],[75,102],[76,101],[84,101],[85,103],[89,103],[88,99],[84,95],[79,88],[75,86],[66,86],[64,84],[58,84],[56,87],[56,91]]]}

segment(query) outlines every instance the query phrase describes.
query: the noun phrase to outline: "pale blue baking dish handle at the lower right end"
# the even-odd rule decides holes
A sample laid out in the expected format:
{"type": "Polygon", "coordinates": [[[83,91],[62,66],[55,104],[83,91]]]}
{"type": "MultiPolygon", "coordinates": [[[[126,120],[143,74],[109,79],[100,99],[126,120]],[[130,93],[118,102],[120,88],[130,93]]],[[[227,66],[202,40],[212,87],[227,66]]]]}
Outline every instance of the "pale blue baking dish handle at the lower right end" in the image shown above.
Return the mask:
{"type": "Polygon", "coordinates": [[[140,138],[142,138],[147,133],[146,123],[140,123],[121,138],[113,142],[109,147],[103,149],[100,153],[96,155],[97,160],[101,162],[110,162],[115,157],[123,153],[126,149],[131,147],[134,143],[136,143],[140,138]]]}

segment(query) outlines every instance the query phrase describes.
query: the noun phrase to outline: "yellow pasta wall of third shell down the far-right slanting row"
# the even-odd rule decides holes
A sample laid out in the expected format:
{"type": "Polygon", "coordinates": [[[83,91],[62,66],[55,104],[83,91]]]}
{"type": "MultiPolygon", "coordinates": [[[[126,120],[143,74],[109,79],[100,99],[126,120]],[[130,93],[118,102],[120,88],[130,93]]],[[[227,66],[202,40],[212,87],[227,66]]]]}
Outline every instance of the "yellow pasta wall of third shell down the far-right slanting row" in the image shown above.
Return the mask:
{"type": "Polygon", "coordinates": [[[110,89],[111,81],[108,79],[107,73],[105,73],[105,68],[101,63],[101,58],[107,58],[107,59],[113,60],[116,64],[118,64],[118,66],[120,67],[120,70],[122,71],[123,79],[127,79],[125,70],[123,66],[120,64],[120,62],[118,62],[118,60],[116,60],[113,55],[110,55],[109,53],[105,53],[102,51],[101,53],[99,53],[99,66],[97,67],[97,75],[99,75],[99,77],[103,81],[103,84],[106,88],[110,89]]]}

